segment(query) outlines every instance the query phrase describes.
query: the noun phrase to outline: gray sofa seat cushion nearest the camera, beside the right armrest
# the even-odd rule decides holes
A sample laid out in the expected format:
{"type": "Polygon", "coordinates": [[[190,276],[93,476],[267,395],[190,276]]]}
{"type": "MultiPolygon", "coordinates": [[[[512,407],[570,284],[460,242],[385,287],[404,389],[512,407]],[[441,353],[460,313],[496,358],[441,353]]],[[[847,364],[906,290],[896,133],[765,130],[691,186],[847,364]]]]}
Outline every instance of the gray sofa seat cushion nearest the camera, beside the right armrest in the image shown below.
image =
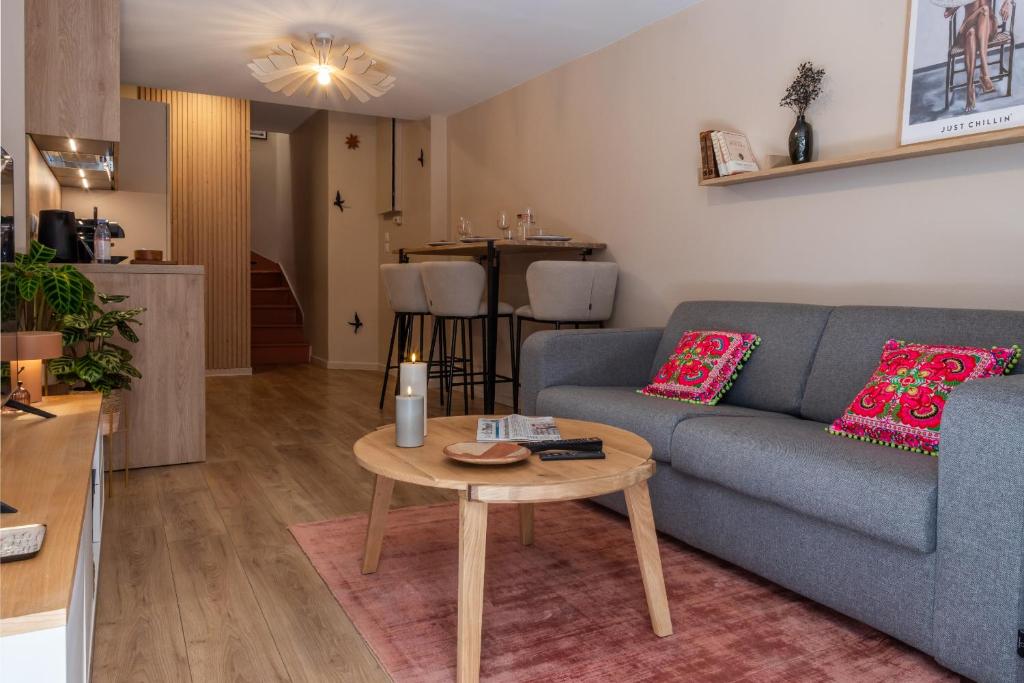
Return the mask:
{"type": "Polygon", "coordinates": [[[935,458],[845,438],[809,420],[678,425],[672,466],[759,500],[921,552],[935,550],[935,458]]]}

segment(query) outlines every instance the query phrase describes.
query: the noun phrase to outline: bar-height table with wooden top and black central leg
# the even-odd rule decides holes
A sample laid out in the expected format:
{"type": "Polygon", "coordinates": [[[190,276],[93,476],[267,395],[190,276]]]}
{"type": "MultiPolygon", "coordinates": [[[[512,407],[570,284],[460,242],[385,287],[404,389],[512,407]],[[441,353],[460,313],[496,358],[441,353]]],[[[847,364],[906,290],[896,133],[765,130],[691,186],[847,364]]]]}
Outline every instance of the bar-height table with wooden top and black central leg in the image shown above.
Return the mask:
{"type": "Polygon", "coordinates": [[[408,263],[410,256],[472,256],[483,260],[487,271],[487,344],[484,349],[486,373],[483,376],[483,412],[495,412],[495,380],[498,361],[498,288],[502,254],[579,254],[586,259],[595,251],[605,249],[599,242],[548,242],[541,240],[502,240],[499,238],[456,242],[439,247],[414,247],[397,250],[398,261],[408,263]]]}

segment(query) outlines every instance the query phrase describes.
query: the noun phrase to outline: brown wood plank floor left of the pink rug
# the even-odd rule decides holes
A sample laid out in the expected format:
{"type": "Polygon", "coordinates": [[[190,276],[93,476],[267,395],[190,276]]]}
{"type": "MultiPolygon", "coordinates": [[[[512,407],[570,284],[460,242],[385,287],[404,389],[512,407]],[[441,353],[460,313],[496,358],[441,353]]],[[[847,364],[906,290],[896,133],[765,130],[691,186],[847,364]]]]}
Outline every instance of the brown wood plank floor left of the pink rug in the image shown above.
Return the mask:
{"type": "MultiPolygon", "coordinates": [[[[393,421],[379,382],[312,366],[207,380],[207,462],[115,478],[94,681],[389,680],[287,528],[368,510],[351,447],[393,421]]],[[[398,483],[392,504],[446,499],[398,483]]]]}

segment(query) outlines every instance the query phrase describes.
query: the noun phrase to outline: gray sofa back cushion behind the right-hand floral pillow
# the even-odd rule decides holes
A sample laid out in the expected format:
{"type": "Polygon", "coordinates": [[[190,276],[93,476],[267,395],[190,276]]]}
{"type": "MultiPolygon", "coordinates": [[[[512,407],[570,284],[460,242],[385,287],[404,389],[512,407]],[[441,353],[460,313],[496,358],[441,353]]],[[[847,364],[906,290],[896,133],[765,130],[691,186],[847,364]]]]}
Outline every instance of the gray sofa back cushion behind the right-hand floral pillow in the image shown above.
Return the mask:
{"type": "MultiPolygon", "coordinates": [[[[879,365],[883,345],[890,339],[983,348],[1024,345],[1024,311],[883,306],[835,308],[807,380],[801,416],[818,422],[839,418],[867,383],[879,365]]],[[[762,350],[759,349],[758,354],[762,350]]],[[[752,362],[749,371],[753,369],[752,362]]],[[[1013,374],[1022,370],[1024,365],[1018,364],[1013,374]]]]}

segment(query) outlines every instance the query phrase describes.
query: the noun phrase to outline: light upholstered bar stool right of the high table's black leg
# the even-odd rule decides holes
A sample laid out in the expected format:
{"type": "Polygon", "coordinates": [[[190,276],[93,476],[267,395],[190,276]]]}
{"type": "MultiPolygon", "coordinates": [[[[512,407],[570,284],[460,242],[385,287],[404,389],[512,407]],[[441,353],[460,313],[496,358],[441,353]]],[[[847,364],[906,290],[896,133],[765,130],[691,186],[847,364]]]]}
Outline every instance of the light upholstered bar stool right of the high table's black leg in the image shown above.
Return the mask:
{"type": "Polygon", "coordinates": [[[561,330],[563,325],[593,325],[599,328],[611,317],[615,300],[618,266],[602,261],[535,261],[526,268],[529,304],[515,311],[515,381],[512,405],[519,412],[519,358],[522,350],[522,323],[547,323],[561,330]]]}

